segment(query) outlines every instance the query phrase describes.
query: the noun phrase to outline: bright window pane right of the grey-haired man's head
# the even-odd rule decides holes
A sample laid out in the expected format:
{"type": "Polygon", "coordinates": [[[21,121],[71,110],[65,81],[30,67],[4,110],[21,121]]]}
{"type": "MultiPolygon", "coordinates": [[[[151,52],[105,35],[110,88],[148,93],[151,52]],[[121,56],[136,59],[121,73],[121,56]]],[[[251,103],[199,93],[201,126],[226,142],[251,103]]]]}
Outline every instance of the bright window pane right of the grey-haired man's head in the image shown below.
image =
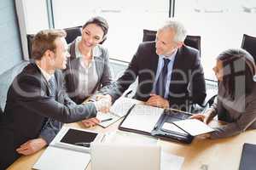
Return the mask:
{"type": "Polygon", "coordinates": [[[243,34],[256,36],[255,0],[177,0],[175,17],[189,35],[201,36],[201,61],[206,78],[215,79],[212,66],[219,53],[240,48],[243,34]]]}

